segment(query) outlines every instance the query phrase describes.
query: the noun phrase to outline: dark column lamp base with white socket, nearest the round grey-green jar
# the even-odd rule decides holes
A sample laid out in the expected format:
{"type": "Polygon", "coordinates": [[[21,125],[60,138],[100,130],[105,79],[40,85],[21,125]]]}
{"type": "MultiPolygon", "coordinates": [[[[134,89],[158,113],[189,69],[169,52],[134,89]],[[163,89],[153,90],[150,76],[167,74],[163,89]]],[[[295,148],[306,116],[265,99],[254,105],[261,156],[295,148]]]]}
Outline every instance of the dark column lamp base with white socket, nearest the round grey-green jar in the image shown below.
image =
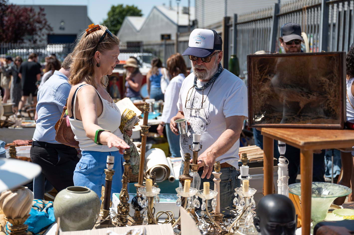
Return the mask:
{"type": "Polygon", "coordinates": [[[102,200],[102,209],[99,213],[101,220],[106,219],[109,216],[109,207],[110,207],[110,195],[112,191],[112,178],[114,175],[113,170],[114,156],[107,156],[107,169],[104,169],[106,175],[105,187],[104,187],[104,196],[102,200]]]}

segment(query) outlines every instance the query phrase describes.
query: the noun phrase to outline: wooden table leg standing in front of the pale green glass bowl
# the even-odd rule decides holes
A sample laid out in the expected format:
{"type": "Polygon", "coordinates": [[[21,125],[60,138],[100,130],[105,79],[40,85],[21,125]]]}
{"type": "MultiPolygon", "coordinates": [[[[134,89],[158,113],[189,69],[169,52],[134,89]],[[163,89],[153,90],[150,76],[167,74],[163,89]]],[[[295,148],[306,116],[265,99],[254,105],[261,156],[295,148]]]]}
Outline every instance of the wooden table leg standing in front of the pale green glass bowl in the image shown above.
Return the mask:
{"type": "Polygon", "coordinates": [[[302,217],[301,234],[302,235],[310,235],[312,165],[313,165],[313,151],[301,149],[300,168],[301,168],[301,217],[302,217]]]}

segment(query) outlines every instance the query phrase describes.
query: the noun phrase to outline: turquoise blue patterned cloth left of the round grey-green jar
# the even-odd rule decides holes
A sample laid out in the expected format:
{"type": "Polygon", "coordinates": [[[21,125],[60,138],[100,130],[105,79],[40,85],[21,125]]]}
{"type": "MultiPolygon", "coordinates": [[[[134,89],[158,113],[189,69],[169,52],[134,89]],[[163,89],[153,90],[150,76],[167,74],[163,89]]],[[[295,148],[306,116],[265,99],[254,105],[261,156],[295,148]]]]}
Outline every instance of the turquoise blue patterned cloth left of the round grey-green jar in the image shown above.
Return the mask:
{"type": "MultiPolygon", "coordinates": [[[[52,201],[34,199],[29,214],[30,217],[25,222],[28,225],[28,235],[42,235],[55,222],[52,201]]],[[[9,222],[6,223],[5,233],[7,235],[11,232],[11,225],[9,222]]]]}

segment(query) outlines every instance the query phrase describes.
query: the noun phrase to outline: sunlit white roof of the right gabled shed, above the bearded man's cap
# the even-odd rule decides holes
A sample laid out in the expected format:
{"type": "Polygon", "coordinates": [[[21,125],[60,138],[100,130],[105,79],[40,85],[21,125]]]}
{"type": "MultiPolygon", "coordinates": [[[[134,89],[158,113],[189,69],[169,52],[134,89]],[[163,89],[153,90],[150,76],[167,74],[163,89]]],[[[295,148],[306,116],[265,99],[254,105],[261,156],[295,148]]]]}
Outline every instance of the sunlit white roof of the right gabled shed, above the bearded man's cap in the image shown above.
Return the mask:
{"type": "MultiPolygon", "coordinates": [[[[162,12],[167,18],[172,20],[175,24],[177,24],[177,7],[167,7],[167,6],[155,6],[160,12],[162,12]]],[[[182,13],[183,6],[179,6],[179,19],[178,25],[188,25],[188,14],[182,13]]],[[[189,7],[190,20],[195,19],[195,10],[194,7],[189,7]]]]}

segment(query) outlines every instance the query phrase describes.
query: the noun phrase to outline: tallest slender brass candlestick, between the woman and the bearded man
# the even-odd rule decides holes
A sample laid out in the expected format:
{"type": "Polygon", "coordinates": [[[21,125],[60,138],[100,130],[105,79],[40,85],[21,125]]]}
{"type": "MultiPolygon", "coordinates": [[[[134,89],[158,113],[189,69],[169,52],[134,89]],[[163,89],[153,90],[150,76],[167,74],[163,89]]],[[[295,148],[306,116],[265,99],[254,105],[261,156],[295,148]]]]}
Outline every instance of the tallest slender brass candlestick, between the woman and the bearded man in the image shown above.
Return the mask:
{"type": "Polygon", "coordinates": [[[137,189],[137,195],[132,199],[132,207],[134,208],[134,217],[128,217],[129,221],[132,224],[142,224],[143,218],[141,216],[140,211],[143,210],[141,206],[138,205],[138,197],[141,195],[138,192],[138,188],[143,187],[143,180],[144,180],[144,168],[145,168],[145,152],[146,152],[146,139],[148,137],[149,128],[148,126],[148,118],[149,118],[149,111],[150,105],[148,103],[144,104],[144,118],[143,118],[143,125],[141,125],[141,154],[140,154],[140,164],[139,164],[139,177],[138,183],[134,184],[137,189]]]}

